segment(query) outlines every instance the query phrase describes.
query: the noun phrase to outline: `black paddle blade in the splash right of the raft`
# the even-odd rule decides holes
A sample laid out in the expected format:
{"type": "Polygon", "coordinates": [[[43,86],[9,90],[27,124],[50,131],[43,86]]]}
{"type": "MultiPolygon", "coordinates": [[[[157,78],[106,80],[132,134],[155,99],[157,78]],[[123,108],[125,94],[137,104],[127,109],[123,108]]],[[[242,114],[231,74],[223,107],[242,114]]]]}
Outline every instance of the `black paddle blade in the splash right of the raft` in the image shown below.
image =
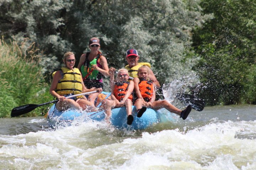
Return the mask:
{"type": "Polygon", "coordinates": [[[177,94],[176,97],[178,100],[186,104],[191,104],[192,108],[196,111],[202,111],[204,109],[205,102],[200,98],[196,98],[195,96],[189,94],[177,94]]]}

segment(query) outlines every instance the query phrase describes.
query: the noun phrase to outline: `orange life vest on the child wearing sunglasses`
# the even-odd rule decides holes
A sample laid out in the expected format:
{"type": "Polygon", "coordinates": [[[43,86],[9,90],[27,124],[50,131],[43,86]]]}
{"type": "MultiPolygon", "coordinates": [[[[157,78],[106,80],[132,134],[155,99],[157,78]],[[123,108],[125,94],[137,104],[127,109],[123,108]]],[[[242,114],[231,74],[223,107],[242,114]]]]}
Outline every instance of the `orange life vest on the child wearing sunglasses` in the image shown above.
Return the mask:
{"type": "MultiPolygon", "coordinates": [[[[114,86],[114,96],[116,99],[121,102],[126,95],[128,90],[129,82],[116,82],[114,86]]],[[[133,100],[132,94],[128,97],[131,101],[133,100]]]]}

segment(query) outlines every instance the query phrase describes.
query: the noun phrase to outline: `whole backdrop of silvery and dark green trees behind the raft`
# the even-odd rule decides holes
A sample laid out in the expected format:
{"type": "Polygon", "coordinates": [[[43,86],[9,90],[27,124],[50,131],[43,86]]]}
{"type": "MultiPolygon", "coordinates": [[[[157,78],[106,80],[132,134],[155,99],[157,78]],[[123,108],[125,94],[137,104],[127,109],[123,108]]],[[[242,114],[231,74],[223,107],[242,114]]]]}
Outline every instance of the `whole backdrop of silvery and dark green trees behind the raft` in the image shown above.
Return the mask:
{"type": "Polygon", "coordinates": [[[110,67],[124,67],[135,48],[161,84],[189,81],[207,105],[256,103],[255,21],[254,0],[0,2],[0,35],[44,51],[45,82],[66,51],[79,60],[97,36],[110,67]]]}

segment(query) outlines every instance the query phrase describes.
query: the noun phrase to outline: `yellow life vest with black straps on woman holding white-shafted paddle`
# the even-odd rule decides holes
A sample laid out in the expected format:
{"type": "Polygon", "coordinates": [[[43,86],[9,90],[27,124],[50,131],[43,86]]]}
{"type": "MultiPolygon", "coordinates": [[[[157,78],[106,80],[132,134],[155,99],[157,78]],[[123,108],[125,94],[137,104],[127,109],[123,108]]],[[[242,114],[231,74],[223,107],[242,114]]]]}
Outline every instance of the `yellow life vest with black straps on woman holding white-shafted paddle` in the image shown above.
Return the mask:
{"type": "MultiPolygon", "coordinates": [[[[57,94],[63,96],[67,94],[81,94],[82,93],[82,83],[81,75],[78,68],[70,70],[69,68],[62,67],[63,78],[59,80],[56,88],[57,94]]],[[[54,76],[54,75],[53,75],[54,76]]],[[[82,96],[77,96],[77,98],[82,98],[82,96]]]]}

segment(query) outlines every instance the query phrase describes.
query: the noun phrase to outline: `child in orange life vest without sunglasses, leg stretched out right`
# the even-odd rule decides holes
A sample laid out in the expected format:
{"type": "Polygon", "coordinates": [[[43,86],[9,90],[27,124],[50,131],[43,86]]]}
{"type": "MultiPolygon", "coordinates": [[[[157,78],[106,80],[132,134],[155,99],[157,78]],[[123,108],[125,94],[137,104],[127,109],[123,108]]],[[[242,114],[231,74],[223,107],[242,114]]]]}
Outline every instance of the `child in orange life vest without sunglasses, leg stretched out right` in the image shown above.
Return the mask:
{"type": "Polygon", "coordinates": [[[137,117],[142,117],[142,114],[146,111],[146,107],[150,107],[156,110],[166,108],[168,111],[180,115],[180,118],[185,120],[191,112],[191,105],[188,105],[185,110],[181,111],[166,100],[155,101],[155,87],[149,81],[148,74],[149,68],[142,66],[138,69],[138,77],[133,79],[134,90],[138,97],[134,104],[137,108],[137,117]]]}

